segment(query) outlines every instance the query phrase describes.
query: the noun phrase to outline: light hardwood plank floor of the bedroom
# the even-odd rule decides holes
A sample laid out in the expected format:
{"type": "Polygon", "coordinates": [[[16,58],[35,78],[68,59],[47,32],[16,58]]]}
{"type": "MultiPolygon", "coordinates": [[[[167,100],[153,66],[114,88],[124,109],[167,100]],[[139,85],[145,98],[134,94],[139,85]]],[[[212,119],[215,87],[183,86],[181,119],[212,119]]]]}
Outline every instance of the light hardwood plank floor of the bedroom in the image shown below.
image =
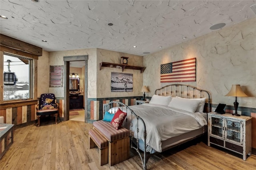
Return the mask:
{"type": "MultiPolygon", "coordinates": [[[[98,149],[89,149],[88,130],[92,124],[81,121],[42,122],[14,130],[14,143],[0,160],[1,170],[139,170],[139,156],[109,166],[98,164],[98,149]],[[46,124],[48,123],[48,124],[46,124]]],[[[252,170],[256,156],[246,161],[208,147],[192,143],[152,156],[148,170],[252,170]]]]}

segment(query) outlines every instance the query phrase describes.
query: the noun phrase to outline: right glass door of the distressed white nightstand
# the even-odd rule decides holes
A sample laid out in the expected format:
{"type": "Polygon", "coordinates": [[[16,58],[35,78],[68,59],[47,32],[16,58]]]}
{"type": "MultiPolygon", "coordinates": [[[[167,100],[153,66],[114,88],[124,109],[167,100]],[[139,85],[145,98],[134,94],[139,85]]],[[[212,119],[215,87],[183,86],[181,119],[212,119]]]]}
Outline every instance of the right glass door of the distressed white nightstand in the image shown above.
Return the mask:
{"type": "Polygon", "coordinates": [[[243,139],[242,128],[243,128],[243,122],[242,121],[226,119],[225,140],[242,144],[242,139],[243,139]]]}

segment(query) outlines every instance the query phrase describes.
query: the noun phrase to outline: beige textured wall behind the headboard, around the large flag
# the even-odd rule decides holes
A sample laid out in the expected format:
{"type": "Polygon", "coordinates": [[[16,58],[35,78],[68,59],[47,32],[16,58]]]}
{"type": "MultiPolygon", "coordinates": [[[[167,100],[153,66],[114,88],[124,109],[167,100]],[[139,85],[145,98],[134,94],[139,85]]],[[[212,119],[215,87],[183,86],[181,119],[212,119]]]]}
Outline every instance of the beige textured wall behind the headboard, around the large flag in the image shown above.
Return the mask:
{"type": "Polygon", "coordinates": [[[225,96],[232,84],[241,84],[248,98],[238,98],[239,106],[256,108],[256,18],[224,27],[219,31],[163,49],[144,57],[146,70],[143,84],[149,96],[160,83],[160,64],[196,57],[196,82],[188,82],[208,90],[212,103],[233,106],[234,97],[225,96]]]}

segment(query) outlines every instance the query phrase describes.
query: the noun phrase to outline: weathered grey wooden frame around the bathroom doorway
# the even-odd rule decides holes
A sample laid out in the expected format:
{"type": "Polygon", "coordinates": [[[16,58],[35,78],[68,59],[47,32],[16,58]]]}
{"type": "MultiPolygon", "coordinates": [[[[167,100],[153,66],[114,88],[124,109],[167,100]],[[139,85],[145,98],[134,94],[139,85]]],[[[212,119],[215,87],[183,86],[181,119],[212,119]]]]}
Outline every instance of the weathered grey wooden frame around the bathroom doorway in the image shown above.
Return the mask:
{"type": "Polygon", "coordinates": [[[84,122],[87,122],[88,55],[64,56],[64,121],[69,120],[69,63],[85,61],[84,67],[84,122]]]}

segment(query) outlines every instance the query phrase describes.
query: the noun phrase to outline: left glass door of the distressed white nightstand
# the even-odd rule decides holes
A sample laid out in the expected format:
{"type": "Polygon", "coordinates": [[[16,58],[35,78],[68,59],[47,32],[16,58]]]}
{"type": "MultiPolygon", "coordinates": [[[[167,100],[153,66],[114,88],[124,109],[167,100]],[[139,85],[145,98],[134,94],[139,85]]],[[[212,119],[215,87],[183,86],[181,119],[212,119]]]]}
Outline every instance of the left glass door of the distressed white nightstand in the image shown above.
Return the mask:
{"type": "Polygon", "coordinates": [[[211,117],[211,135],[224,138],[224,120],[218,117],[211,117]]]}

